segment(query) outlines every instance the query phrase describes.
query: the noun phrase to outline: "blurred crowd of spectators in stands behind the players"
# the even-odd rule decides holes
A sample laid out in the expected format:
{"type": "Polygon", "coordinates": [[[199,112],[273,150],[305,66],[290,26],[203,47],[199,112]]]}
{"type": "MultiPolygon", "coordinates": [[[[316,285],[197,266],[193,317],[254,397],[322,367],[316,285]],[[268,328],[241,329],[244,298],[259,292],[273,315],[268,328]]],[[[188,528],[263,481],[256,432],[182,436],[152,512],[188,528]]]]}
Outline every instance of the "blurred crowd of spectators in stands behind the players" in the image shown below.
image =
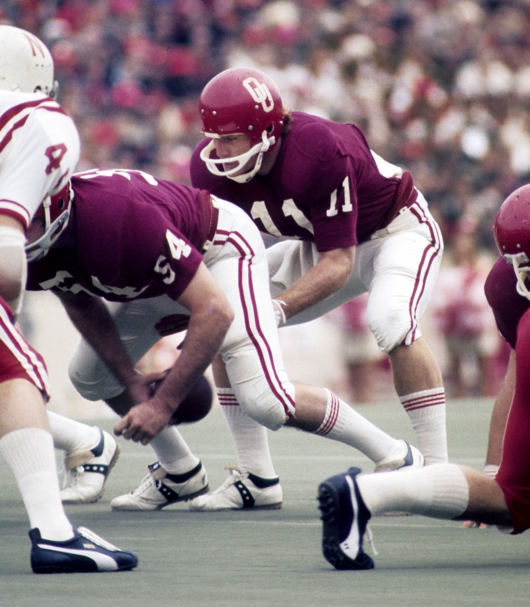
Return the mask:
{"type": "Polygon", "coordinates": [[[495,256],[495,214],[530,181],[529,0],[3,0],[0,21],[52,50],[80,170],[188,182],[202,87],[251,65],[408,169],[449,260],[463,223],[495,256]]]}

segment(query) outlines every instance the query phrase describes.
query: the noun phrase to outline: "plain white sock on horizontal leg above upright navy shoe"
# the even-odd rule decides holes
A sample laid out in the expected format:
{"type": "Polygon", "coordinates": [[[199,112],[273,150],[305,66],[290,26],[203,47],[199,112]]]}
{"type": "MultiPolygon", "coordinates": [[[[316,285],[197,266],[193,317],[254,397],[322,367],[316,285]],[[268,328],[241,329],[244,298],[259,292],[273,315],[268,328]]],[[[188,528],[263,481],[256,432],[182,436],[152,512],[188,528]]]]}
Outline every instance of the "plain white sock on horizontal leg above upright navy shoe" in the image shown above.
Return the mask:
{"type": "Polygon", "coordinates": [[[456,464],[433,464],[357,476],[360,494],[371,514],[394,510],[433,518],[455,518],[469,503],[469,486],[456,464]]]}

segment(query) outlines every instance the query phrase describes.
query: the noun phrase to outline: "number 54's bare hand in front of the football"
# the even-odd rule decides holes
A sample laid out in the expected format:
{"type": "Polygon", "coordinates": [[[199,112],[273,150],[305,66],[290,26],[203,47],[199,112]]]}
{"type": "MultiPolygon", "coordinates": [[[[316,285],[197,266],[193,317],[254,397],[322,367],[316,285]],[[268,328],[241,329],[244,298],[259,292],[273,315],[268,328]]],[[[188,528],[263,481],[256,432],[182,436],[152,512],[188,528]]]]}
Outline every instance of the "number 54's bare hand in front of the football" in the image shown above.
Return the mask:
{"type": "Polygon", "coordinates": [[[158,399],[152,398],[132,407],[129,413],[115,424],[114,434],[123,436],[126,440],[130,439],[133,443],[146,445],[168,425],[172,414],[172,410],[160,406],[158,399]]]}

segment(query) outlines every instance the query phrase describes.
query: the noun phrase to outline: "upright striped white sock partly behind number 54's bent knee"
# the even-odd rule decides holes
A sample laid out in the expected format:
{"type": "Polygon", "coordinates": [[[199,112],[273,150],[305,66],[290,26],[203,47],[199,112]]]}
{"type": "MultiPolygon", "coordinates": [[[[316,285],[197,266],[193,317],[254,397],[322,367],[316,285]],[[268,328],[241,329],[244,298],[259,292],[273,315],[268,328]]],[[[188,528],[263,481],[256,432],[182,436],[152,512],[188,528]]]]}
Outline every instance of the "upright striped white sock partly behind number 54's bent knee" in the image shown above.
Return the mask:
{"type": "Polygon", "coordinates": [[[262,478],[275,478],[267,429],[239,406],[232,388],[217,388],[217,397],[238,454],[238,467],[262,478]]]}

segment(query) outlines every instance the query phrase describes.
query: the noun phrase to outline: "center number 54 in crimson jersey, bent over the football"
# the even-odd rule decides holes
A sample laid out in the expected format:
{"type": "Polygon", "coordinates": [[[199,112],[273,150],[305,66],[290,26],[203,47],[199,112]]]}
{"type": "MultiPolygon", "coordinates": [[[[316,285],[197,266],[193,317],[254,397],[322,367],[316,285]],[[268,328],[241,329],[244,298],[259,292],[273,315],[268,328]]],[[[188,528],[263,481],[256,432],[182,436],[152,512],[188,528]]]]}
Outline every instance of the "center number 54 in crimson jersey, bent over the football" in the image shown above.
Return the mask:
{"type": "MultiPolygon", "coordinates": [[[[160,509],[207,491],[201,462],[168,422],[218,350],[231,386],[219,398],[237,398],[253,441],[256,434],[266,440],[266,427],[288,425],[353,446],[380,470],[423,465],[415,447],[325,388],[289,381],[263,240],[245,212],[204,190],[122,169],[74,175],[67,197],[71,219],[46,256],[30,263],[28,288],[57,293],[84,336],[69,369],[81,395],[108,402],[123,415],[115,432],[150,442],[159,459],[136,490],[112,500],[112,509],[160,509]],[[115,302],[112,317],[102,299],[115,302]],[[160,334],[182,329],[182,314],[189,324],[181,354],[151,395],[151,378],[135,373],[134,364],[160,334]]],[[[40,234],[38,221],[32,228],[40,234]]],[[[77,424],[54,417],[63,435],[77,424]]],[[[252,443],[245,447],[252,453],[252,443]]],[[[217,508],[282,504],[270,458],[251,474],[233,469],[225,489],[217,508]]],[[[210,509],[210,502],[194,509],[210,509]]]]}

